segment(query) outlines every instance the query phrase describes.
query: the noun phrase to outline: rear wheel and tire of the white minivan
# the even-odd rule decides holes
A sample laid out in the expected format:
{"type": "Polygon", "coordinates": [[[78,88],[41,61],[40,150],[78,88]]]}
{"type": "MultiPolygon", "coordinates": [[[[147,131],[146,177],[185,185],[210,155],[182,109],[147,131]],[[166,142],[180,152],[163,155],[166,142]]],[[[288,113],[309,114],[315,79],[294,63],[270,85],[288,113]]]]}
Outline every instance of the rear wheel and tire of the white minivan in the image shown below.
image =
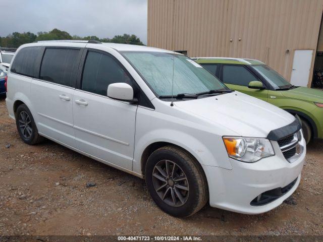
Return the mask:
{"type": "Polygon", "coordinates": [[[25,104],[18,106],[15,116],[19,136],[26,144],[34,145],[43,141],[44,138],[38,134],[34,118],[25,104]]]}

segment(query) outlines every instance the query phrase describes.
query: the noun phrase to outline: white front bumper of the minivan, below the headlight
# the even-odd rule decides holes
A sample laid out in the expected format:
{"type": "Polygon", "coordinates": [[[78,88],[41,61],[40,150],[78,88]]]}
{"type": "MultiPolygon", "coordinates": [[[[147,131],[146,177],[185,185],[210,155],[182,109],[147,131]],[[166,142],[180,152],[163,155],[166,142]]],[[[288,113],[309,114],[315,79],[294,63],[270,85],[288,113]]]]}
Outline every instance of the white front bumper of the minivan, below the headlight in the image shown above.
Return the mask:
{"type": "MultiPolygon", "coordinates": [[[[305,147],[304,139],[301,142],[305,147]]],[[[289,163],[277,142],[273,142],[273,146],[275,156],[255,163],[230,159],[232,170],[203,165],[208,182],[210,206],[245,214],[259,214],[276,208],[292,195],[299,185],[306,148],[295,162],[289,163]],[[259,206],[250,204],[258,195],[284,188],[295,179],[296,182],[289,191],[274,201],[259,206]]]]}

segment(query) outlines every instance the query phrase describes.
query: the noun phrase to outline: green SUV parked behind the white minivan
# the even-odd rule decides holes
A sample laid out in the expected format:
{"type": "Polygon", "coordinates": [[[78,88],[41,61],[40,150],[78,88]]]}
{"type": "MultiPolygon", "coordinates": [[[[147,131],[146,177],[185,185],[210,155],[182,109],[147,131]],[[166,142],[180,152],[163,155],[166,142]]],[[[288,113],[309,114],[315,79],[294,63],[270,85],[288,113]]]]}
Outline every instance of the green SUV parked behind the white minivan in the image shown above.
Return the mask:
{"type": "Polygon", "coordinates": [[[229,88],[272,103],[302,120],[306,143],[323,138],[323,91],[295,87],[255,59],[197,57],[197,63],[229,88]]]}

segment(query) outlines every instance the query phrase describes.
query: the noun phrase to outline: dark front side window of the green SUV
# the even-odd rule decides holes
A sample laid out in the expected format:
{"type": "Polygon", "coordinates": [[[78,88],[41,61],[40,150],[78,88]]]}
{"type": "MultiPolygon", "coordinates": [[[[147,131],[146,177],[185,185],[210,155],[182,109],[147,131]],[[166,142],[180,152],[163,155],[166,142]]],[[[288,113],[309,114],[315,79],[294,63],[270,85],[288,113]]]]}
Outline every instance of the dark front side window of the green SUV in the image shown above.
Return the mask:
{"type": "Polygon", "coordinates": [[[227,84],[247,87],[249,82],[258,81],[259,79],[243,66],[223,65],[222,80],[227,84]]]}

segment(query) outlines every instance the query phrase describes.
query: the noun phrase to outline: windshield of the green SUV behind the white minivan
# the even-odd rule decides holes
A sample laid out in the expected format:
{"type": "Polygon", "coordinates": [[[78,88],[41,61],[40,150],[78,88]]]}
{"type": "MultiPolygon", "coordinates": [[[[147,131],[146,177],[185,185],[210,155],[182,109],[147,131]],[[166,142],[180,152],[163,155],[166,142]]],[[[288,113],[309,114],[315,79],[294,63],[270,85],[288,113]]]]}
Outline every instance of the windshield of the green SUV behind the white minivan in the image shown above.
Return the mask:
{"type": "Polygon", "coordinates": [[[277,89],[290,89],[293,87],[284,77],[278,72],[274,71],[266,65],[252,65],[252,67],[270,83],[276,90],[277,89]]]}

